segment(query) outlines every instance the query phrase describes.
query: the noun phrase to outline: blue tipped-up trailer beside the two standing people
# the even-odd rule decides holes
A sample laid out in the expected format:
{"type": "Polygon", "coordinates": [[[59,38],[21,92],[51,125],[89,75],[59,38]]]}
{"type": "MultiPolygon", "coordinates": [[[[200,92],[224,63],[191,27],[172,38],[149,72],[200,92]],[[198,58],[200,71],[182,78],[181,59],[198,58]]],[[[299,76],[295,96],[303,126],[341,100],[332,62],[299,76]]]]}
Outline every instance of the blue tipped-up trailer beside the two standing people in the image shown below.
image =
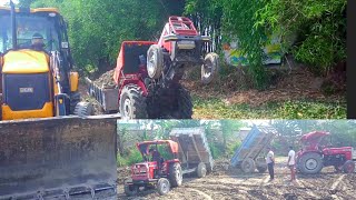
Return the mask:
{"type": "Polygon", "coordinates": [[[246,173],[251,173],[256,169],[261,173],[265,172],[267,163],[261,153],[270,144],[277,130],[271,127],[254,126],[241,146],[236,149],[231,166],[240,168],[246,173]]]}

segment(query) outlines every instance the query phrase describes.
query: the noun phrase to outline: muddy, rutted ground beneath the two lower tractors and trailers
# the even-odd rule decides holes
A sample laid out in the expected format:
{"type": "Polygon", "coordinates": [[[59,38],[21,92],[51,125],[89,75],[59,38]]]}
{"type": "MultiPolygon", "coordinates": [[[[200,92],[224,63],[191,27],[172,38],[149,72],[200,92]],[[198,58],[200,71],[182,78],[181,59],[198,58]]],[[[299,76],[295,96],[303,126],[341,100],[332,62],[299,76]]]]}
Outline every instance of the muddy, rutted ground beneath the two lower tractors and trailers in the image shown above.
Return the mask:
{"type": "Polygon", "coordinates": [[[205,178],[185,177],[179,188],[174,188],[167,196],[160,197],[155,190],[141,192],[128,198],[123,187],[118,187],[118,199],[123,200],[227,200],[227,199],[355,199],[356,173],[334,172],[333,168],[323,169],[315,176],[297,174],[295,182],[289,181],[289,171],[276,164],[275,180],[269,181],[268,173],[244,174],[238,169],[225,170],[217,167],[205,178]]]}

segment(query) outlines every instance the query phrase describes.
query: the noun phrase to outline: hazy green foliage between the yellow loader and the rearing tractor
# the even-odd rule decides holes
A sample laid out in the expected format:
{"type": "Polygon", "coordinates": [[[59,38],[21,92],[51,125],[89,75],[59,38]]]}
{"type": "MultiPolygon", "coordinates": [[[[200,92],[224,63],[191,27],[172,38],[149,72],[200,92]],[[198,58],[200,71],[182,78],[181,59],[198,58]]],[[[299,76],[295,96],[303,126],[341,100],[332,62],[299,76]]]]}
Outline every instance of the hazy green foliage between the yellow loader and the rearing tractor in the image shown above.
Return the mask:
{"type": "Polygon", "coordinates": [[[87,71],[92,66],[111,69],[122,41],[159,37],[168,16],[181,13],[184,7],[168,0],[33,0],[31,6],[60,9],[69,22],[77,68],[87,71]]]}

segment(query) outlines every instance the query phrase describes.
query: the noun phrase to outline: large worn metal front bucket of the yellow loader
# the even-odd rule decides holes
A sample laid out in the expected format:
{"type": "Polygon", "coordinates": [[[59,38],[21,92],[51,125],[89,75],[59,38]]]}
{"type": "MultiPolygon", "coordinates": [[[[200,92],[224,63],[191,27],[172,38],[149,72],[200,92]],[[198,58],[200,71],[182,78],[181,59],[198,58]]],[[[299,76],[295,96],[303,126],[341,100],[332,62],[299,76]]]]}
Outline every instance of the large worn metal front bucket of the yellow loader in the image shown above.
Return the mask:
{"type": "Polygon", "coordinates": [[[0,200],[116,199],[116,120],[0,121],[0,200]]]}

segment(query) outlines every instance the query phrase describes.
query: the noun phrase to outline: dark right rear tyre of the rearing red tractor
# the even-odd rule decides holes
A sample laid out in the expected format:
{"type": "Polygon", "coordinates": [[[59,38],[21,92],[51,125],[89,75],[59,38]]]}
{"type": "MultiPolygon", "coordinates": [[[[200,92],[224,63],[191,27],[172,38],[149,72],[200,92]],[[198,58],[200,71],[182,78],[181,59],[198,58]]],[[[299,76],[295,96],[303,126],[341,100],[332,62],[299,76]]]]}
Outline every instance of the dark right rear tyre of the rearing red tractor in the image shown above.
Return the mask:
{"type": "Polygon", "coordinates": [[[192,116],[192,102],[190,93],[181,84],[177,88],[177,104],[178,110],[175,114],[176,119],[191,119],[192,116]]]}

